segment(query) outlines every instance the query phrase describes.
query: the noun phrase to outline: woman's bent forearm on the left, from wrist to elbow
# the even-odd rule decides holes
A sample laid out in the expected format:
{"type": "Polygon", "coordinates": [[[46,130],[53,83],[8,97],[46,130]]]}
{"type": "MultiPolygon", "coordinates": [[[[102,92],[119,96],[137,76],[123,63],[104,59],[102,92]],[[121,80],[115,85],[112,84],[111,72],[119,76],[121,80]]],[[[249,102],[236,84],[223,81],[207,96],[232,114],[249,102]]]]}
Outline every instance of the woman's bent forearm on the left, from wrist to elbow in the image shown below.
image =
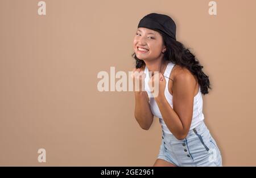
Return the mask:
{"type": "Polygon", "coordinates": [[[148,130],[154,120],[146,91],[135,91],[134,117],[142,129],[148,130]]]}

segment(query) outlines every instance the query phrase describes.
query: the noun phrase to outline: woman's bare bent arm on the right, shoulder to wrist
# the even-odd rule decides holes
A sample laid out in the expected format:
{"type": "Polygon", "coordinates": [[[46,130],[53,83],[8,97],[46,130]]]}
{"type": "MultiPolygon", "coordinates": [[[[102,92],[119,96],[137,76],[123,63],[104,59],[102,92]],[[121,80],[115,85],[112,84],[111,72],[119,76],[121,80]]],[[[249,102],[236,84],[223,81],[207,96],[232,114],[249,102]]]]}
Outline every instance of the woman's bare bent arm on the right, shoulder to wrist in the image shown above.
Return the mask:
{"type": "Polygon", "coordinates": [[[182,71],[174,78],[172,87],[173,107],[168,103],[164,94],[155,98],[160,113],[167,128],[177,139],[187,137],[193,116],[193,99],[196,80],[191,73],[182,71]]]}

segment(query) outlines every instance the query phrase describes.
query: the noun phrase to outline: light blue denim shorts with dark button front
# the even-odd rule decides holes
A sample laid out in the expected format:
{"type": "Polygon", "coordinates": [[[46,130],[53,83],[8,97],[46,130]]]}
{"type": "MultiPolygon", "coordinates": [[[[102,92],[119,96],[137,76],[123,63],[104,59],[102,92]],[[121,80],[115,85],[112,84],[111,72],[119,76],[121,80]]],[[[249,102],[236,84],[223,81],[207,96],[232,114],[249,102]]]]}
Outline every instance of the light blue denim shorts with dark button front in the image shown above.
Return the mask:
{"type": "Polygon", "coordinates": [[[158,158],[176,166],[222,166],[221,152],[204,121],[183,140],[162,132],[158,158]]]}

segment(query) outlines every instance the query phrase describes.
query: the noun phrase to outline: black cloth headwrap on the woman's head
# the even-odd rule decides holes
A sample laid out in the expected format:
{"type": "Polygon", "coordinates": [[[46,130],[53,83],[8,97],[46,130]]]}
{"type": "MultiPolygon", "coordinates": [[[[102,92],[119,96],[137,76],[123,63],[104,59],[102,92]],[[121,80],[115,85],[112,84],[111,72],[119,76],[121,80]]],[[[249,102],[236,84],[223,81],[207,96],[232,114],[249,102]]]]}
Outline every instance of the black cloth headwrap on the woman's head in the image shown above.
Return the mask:
{"type": "Polygon", "coordinates": [[[159,30],[176,40],[176,24],[168,15],[151,13],[144,16],[138,24],[139,27],[159,30]]]}

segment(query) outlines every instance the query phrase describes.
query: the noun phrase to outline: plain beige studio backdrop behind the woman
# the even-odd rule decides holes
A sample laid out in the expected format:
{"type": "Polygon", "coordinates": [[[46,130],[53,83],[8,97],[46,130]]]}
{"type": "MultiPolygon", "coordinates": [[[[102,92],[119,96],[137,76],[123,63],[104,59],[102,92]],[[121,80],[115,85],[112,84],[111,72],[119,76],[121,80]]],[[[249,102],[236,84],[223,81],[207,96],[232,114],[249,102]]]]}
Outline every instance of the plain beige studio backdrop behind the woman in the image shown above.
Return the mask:
{"type": "Polygon", "coordinates": [[[0,165],[152,166],[158,118],[134,118],[133,92],[99,92],[99,71],[130,71],[133,37],[150,12],[172,16],[177,40],[213,90],[205,122],[224,166],[255,166],[256,1],[0,1],[0,165]],[[38,163],[38,149],[47,162],[38,163]]]}

